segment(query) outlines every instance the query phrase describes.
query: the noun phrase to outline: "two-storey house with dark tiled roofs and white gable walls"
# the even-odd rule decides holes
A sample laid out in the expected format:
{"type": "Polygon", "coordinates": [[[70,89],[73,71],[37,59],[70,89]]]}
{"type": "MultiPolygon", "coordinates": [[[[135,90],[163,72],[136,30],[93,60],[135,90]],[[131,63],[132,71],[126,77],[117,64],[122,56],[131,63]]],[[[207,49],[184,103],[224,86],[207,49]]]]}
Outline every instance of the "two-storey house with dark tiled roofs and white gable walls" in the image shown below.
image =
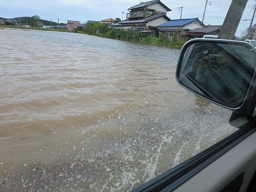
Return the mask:
{"type": "Polygon", "coordinates": [[[157,31],[156,26],[170,20],[167,12],[170,8],[161,3],[160,0],[147,1],[128,9],[126,19],[111,25],[114,28],[133,31],[157,31]]]}

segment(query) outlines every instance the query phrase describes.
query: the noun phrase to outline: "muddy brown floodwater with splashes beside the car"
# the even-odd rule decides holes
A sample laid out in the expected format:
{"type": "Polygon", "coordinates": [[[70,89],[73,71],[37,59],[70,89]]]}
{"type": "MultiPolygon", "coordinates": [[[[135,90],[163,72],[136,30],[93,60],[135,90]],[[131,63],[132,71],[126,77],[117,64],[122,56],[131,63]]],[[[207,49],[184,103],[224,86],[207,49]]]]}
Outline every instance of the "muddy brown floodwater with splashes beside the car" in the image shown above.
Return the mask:
{"type": "Polygon", "coordinates": [[[236,131],[179,50],[0,29],[0,191],[131,191],[236,131]]]}

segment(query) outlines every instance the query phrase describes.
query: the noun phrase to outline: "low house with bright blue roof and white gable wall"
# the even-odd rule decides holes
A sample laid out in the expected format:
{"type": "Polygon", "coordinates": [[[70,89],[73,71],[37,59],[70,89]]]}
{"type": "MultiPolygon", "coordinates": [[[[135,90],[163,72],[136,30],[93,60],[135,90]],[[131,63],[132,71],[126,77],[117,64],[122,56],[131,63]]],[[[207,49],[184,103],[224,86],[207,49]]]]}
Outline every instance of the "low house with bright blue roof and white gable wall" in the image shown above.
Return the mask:
{"type": "Polygon", "coordinates": [[[206,26],[198,18],[191,19],[173,19],[168,22],[165,22],[159,26],[157,29],[159,34],[164,34],[169,38],[172,38],[175,32],[179,36],[185,36],[188,31],[193,29],[205,29],[206,26]]]}

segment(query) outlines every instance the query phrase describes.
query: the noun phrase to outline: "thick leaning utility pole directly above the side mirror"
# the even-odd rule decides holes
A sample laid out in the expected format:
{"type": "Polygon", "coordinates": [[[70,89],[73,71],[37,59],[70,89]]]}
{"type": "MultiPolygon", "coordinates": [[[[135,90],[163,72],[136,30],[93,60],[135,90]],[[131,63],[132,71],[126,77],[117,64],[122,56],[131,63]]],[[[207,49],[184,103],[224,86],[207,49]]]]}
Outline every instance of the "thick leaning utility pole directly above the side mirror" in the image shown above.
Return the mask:
{"type": "Polygon", "coordinates": [[[244,8],[248,0],[232,0],[219,34],[223,39],[234,39],[244,8]]]}

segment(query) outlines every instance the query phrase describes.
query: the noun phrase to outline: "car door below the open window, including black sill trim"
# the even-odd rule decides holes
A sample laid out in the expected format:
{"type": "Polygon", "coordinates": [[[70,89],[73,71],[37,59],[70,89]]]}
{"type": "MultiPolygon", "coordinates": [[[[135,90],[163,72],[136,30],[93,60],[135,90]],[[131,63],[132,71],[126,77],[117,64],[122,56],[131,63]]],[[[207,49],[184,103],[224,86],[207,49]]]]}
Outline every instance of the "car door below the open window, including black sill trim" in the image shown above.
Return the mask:
{"type": "Polygon", "coordinates": [[[255,177],[256,127],[239,128],[133,191],[246,191],[255,177]]]}

